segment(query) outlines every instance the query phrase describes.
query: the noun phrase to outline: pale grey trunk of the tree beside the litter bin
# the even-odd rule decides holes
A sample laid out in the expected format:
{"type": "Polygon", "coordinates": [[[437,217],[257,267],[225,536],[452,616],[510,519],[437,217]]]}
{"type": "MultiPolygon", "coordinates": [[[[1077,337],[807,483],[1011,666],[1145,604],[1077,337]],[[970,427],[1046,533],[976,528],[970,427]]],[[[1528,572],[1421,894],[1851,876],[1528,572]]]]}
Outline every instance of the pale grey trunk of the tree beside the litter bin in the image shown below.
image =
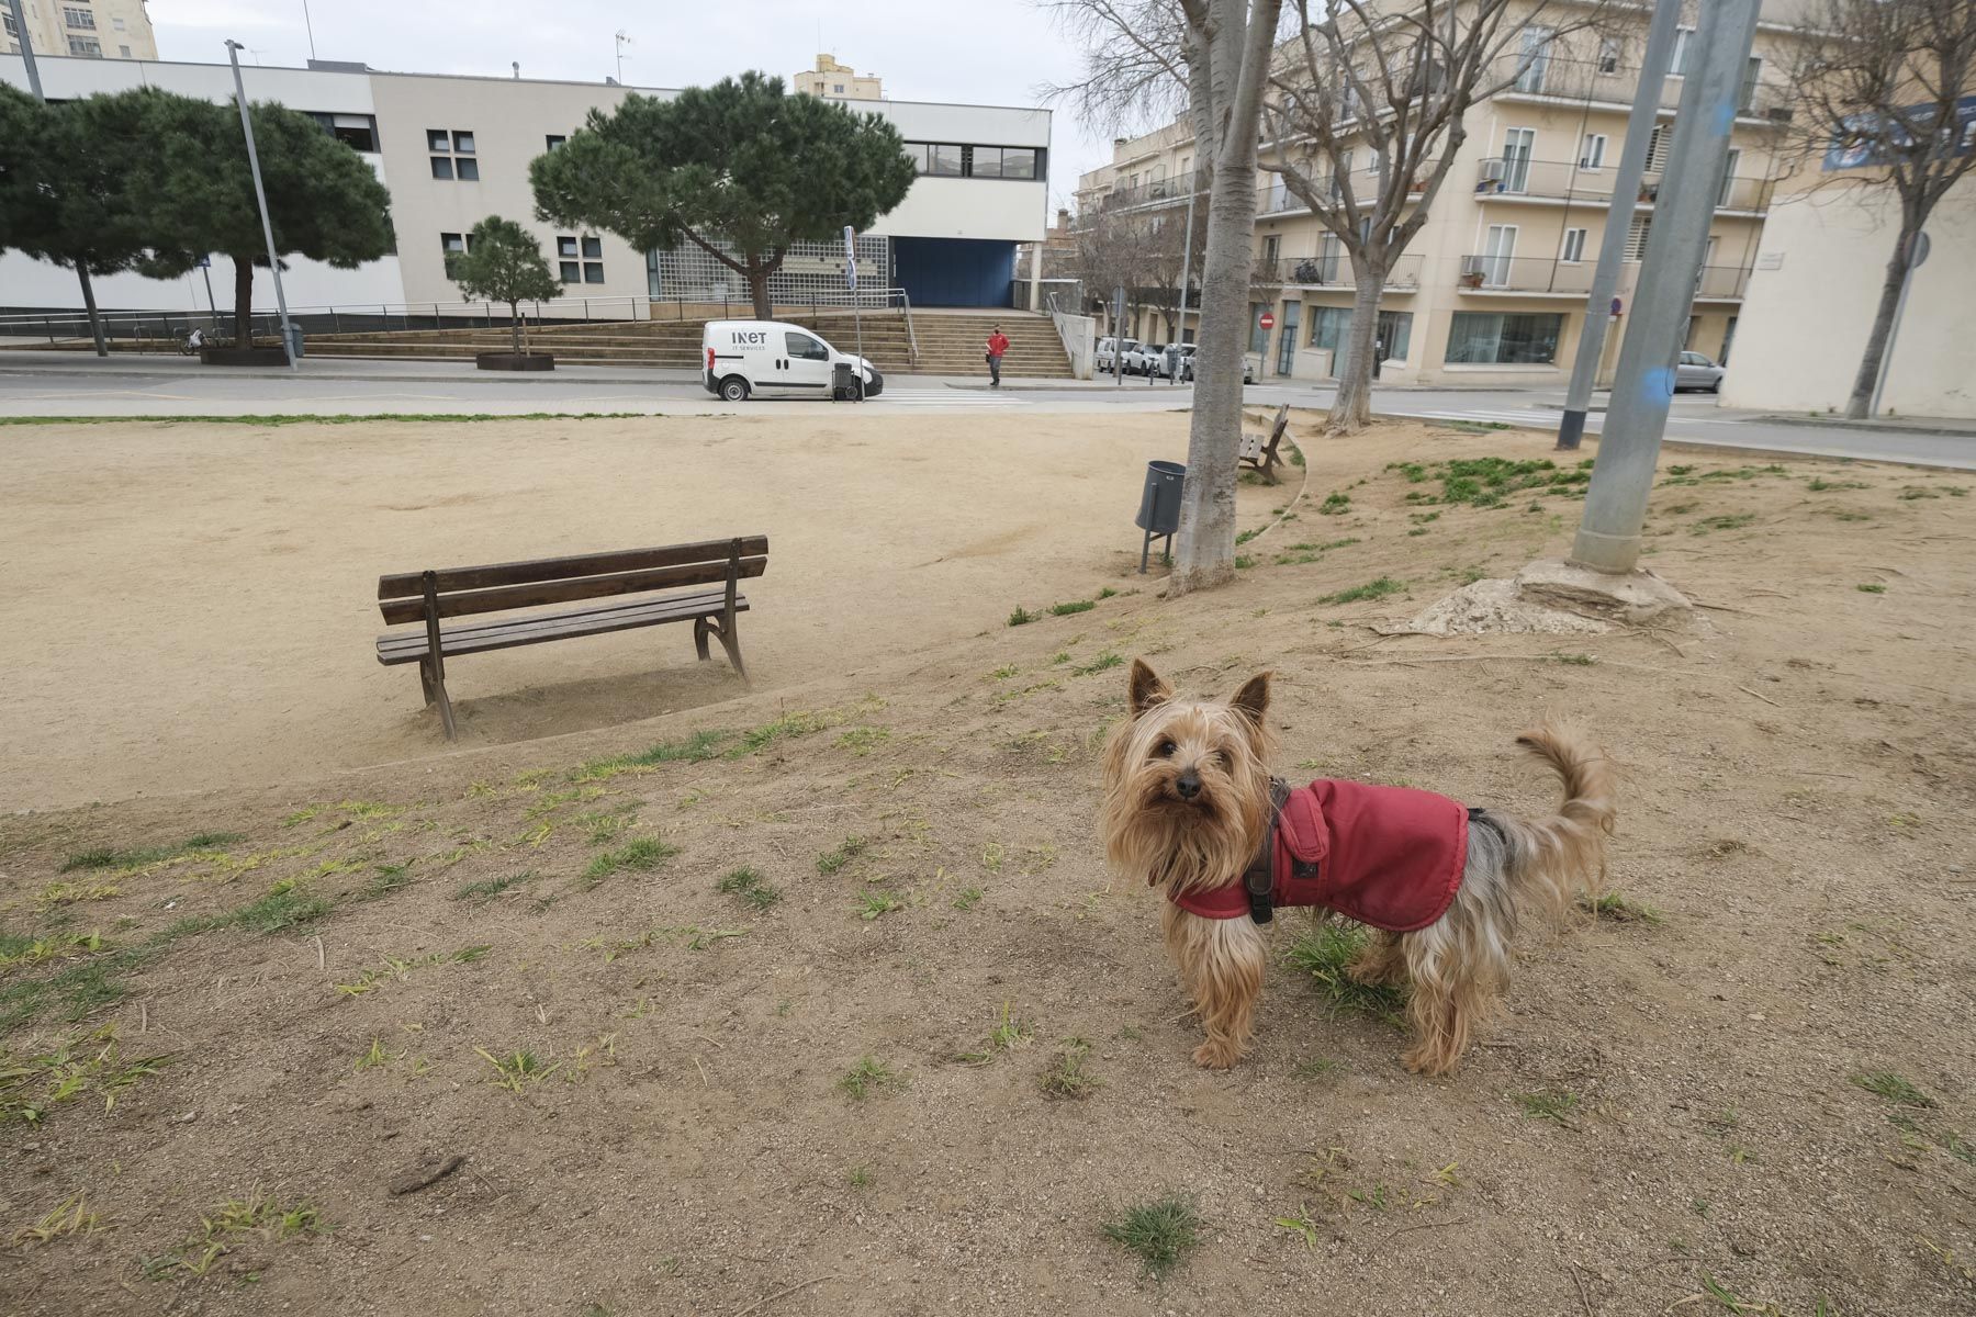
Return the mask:
{"type": "MultiPolygon", "coordinates": [[[[1276,4],[1215,0],[1213,118],[1221,120],[1207,194],[1201,259],[1201,334],[1194,355],[1194,421],[1180,535],[1168,596],[1235,579],[1235,476],[1241,450],[1241,351],[1255,265],[1255,124],[1267,77],[1276,4]],[[1265,26],[1265,32],[1251,30],[1265,26]]],[[[1199,87],[1194,89],[1199,95],[1199,87]]]]}

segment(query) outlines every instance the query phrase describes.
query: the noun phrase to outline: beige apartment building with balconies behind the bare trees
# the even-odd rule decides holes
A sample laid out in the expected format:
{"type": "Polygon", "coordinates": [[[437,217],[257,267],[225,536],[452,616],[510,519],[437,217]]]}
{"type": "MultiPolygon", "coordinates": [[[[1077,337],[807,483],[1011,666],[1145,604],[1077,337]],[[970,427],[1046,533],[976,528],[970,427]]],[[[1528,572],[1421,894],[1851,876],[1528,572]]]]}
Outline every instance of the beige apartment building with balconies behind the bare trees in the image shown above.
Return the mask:
{"type": "MultiPolygon", "coordinates": [[[[1784,172],[1778,150],[1792,115],[1784,79],[1792,36],[1786,24],[1770,18],[1770,8],[1743,83],[1729,168],[1686,334],[1688,348],[1719,359],[1733,353],[1763,223],[1784,172]]],[[[1674,115],[1691,57],[1693,4],[1688,10],[1672,75],[1660,93],[1640,207],[1624,239],[1618,294],[1606,312],[1614,330],[1632,306],[1654,197],[1666,182],[1674,115]]],[[[1640,85],[1646,16],[1642,8],[1636,26],[1606,36],[1553,36],[1527,28],[1504,55],[1508,85],[1470,111],[1466,140],[1431,217],[1387,278],[1377,332],[1381,379],[1545,385],[1569,377],[1612,205],[1626,116],[1640,85]]],[[[1371,154],[1359,156],[1352,160],[1352,188],[1365,197],[1375,190],[1375,172],[1371,154]]],[[[1304,160],[1296,142],[1265,142],[1263,160],[1273,158],[1304,160]]],[[[1308,166],[1302,172],[1324,170],[1308,166]]],[[[1184,207],[1194,176],[1186,120],[1116,142],[1112,164],[1079,180],[1081,221],[1095,223],[1114,209],[1184,207]]],[[[1205,188],[1205,180],[1199,186],[1205,188]]],[[[1255,209],[1249,351],[1261,365],[1259,377],[1330,377],[1344,365],[1340,353],[1352,318],[1350,257],[1267,168],[1257,176],[1255,209]],[[1269,330],[1263,328],[1265,312],[1275,320],[1269,330]]],[[[1166,324],[1148,310],[1128,332],[1162,340],[1166,324]]],[[[1192,332],[1194,316],[1186,336],[1192,332]]],[[[1616,365],[1618,342],[1618,334],[1608,334],[1606,377],[1616,365]]]]}

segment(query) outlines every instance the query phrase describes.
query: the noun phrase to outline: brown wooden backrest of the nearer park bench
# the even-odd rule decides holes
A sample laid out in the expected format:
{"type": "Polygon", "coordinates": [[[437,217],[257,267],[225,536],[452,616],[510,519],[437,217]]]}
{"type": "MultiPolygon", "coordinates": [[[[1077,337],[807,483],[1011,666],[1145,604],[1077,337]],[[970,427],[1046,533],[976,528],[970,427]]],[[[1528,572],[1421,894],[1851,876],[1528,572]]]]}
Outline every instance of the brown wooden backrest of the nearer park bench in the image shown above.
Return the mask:
{"type": "MultiPolygon", "coordinates": [[[[703,539],[694,545],[583,553],[534,563],[447,567],[433,573],[437,616],[502,612],[563,604],[609,594],[644,594],[686,584],[733,582],[769,567],[769,537],[703,539]]],[[[377,579],[377,610],[385,624],[425,620],[427,573],[377,579]]]]}

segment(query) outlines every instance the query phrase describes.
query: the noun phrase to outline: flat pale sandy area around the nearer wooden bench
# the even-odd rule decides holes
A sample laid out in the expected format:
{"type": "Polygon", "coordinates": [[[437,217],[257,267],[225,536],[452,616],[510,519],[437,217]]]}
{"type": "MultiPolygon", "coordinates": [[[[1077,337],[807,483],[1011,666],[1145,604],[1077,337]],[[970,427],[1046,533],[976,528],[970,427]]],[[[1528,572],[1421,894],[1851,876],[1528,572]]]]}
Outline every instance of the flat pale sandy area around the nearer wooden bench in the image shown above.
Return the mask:
{"type": "MultiPolygon", "coordinates": [[[[1144,462],[1184,450],[1184,417],[6,428],[0,810],[441,752],[417,669],[373,656],[385,571],[769,533],[741,638],[775,689],[1091,588],[1144,462]]],[[[684,626],[449,679],[466,744],[739,687],[684,626]]]]}

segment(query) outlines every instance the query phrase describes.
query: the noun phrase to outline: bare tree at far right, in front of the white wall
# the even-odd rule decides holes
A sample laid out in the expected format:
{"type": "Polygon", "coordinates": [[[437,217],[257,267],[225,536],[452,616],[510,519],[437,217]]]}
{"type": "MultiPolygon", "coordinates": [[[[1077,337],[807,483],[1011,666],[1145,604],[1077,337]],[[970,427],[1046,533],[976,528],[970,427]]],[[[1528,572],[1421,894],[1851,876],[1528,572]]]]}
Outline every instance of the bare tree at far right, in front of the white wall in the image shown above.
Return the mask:
{"type": "Polygon", "coordinates": [[[1976,4],[1818,0],[1792,83],[1794,138],[1828,190],[1893,192],[1901,225],[1846,415],[1873,407],[1901,284],[1935,205],[1976,170],[1976,4]]]}

